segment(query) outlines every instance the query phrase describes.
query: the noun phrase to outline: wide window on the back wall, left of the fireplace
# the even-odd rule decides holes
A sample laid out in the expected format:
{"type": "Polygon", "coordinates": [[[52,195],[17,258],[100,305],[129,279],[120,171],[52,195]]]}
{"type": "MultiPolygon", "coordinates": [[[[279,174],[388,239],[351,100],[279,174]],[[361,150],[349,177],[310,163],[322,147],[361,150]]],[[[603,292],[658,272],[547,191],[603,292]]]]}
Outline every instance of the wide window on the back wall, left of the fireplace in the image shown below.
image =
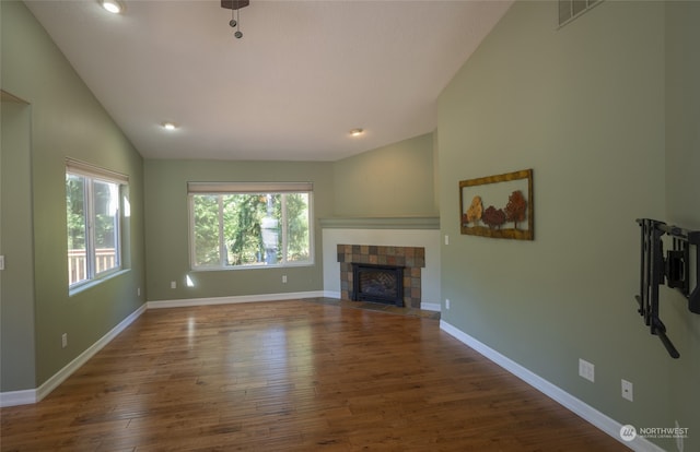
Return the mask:
{"type": "Polygon", "coordinates": [[[310,182],[189,182],[188,191],[192,269],[313,263],[310,182]]]}

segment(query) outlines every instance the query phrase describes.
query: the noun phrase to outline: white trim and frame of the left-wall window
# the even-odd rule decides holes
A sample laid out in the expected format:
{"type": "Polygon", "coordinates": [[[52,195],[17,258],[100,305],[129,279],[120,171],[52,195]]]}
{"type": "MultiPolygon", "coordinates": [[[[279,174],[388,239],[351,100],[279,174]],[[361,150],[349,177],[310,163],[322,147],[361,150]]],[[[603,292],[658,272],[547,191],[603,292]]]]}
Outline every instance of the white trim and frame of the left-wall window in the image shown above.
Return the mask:
{"type": "MultiPolygon", "coordinates": [[[[125,219],[125,206],[124,197],[129,185],[129,177],[120,173],[112,171],[105,168],[94,166],[92,164],[77,160],[73,158],[66,158],[66,176],[73,175],[88,179],[89,183],[85,185],[85,218],[88,224],[85,225],[85,271],[86,278],[80,279],[71,284],[70,277],[68,278],[68,289],[70,294],[83,290],[86,287],[93,286],[95,283],[109,278],[120,272],[124,269],[124,219],[125,219]],[[112,269],[97,272],[96,269],[96,248],[94,237],[94,183],[113,183],[117,186],[117,212],[116,212],[116,234],[115,234],[115,261],[116,265],[112,269]],[[89,233],[90,231],[90,233],[89,233]]],[[[66,188],[66,187],[65,187],[66,188]]],[[[68,221],[68,218],[66,218],[68,221]]],[[[68,226],[68,225],[67,225],[68,226]]],[[[68,230],[67,230],[68,231],[68,230]]],[[[68,247],[66,253],[68,258],[68,247]]],[[[68,261],[68,259],[67,259],[68,261]]]]}

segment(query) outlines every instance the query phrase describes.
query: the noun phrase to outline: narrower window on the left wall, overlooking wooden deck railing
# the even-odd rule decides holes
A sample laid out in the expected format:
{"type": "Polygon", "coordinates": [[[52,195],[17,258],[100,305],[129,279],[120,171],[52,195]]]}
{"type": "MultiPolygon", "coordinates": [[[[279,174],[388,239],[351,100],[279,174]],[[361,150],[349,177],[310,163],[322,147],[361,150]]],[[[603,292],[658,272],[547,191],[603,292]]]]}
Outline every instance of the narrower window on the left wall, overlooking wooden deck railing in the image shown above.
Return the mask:
{"type": "Polygon", "coordinates": [[[120,192],[128,179],[68,160],[66,221],[68,284],[79,286],[121,267],[120,192]]]}

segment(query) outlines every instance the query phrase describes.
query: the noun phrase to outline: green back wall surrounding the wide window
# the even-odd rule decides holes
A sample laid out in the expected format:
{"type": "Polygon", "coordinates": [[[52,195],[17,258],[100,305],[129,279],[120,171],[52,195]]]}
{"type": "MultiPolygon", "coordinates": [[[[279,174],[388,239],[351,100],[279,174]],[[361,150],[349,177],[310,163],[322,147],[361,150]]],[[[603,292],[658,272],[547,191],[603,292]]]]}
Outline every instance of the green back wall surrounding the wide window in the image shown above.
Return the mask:
{"type": "Polygon", "coordinates": [[[318,218],[332,214],[330,163],[147,160],[145,181],[149,301],[323,290],[318,218]],[[190,272],[188,181],[312,181],[315,264],[190,272]],[[185,285],[188,275],[194,287],[185,285]],[[282,275],[288,277],[284,284],[282,275]]]}

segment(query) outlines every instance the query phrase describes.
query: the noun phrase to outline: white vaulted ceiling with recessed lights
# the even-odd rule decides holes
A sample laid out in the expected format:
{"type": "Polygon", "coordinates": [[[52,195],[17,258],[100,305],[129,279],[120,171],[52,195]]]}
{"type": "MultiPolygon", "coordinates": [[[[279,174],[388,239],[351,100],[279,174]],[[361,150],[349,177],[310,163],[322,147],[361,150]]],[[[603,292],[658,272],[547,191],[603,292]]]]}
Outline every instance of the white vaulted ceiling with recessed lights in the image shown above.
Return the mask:
{"type": "Polygon", "coordinates": [[[25,3],[144,157],[337,160],[433,131],[512,0],[25,3]]]}

